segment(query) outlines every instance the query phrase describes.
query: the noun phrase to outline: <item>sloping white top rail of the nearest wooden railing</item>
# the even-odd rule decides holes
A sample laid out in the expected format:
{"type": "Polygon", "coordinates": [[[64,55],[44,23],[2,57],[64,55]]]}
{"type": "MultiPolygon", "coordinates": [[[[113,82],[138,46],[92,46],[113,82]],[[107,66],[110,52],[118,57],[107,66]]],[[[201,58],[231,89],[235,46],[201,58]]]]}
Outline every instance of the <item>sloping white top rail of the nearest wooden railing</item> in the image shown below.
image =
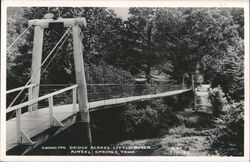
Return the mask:
{"type": "Polygon", "coordinates": [[[41,101],[41,100],[44,100],[44,99],[47,99],[47,98],[49,98],[49,97],[52,97],[52,96],[58,95],[58,94],[60,94],[60,93],[66,92],[66,91],[68,91],[68,90],[74,89],[74,88],[76,88],[77,86],[78,86],[78,85],[73,85],[73,86],[70,86],[70,87],[61,89],[61,90],[59,90],[59,91],[55,91],[55,92],[49,93],[49,94],[47,94],[47,95],[45,95],[45,96],[42,96],[42,97],[39,97],[39,98],[37,98],[37,99],[31,100],[31,101],[27,101],[27,102],[24,102],[24,103],[22,103],[22,104],[19,104],[19,105],[10,107],[10,108],[8,108],[8,109],[6,110],[6,113],[9,113],[9,112],[14,111],[14,110],[17,110],[17,109],[21,109],[21,108],[23,108],[23,107],[25,107],[25,106],[32,105],[32,104],[37,103],[37,102],[39,102],[39,101],[41,101]]]}

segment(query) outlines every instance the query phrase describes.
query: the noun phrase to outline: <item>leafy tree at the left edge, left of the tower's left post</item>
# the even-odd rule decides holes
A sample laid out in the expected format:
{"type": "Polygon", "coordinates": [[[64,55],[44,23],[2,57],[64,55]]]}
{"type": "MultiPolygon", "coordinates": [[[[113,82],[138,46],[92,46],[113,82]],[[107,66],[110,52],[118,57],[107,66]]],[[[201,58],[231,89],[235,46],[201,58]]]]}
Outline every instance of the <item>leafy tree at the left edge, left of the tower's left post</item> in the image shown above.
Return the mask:
{"type": "MultiPolygon", "coordinates": [[[[9,7],[7,11],[7,47],[13,43],[18,36],[27,28],[27,20],[22,17],[24,12],[23,8],[9,7]]],[[[26,70],[26,67],[30,64],[27,62],[27,59],[23,59],[22,53],[25,54],[25,58],[30,58],[30,51],[28,48],[28,42],[26,39],[30,36],[30,33],[27,33],[19,39],[19,41],[14,44],[7,51],[7,78],[11,82],[7,82],[7,89],[10,87],[14,88],[20,86],[20,78],[27,77],[29,71],[26,70]],[[23,60],[22,62],[19,62],[23,60]],[[21,75],[22,74],[22,75],[21,75]]]]}

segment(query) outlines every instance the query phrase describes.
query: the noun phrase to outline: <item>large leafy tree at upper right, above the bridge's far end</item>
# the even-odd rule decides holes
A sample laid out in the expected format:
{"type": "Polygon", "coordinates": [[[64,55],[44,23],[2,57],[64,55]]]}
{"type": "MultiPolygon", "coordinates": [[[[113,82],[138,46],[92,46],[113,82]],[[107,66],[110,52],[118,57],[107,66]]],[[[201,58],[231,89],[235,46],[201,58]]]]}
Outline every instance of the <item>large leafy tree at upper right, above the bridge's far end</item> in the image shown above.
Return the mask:
{"type": "Polygon", "coordinates": [[[197,64],[206,69],[224,58],[239,37],[230,11],[223,8],[162,8],[156,20],[157,42],[172,64],[166,72],[177,79],[197,64]]]}

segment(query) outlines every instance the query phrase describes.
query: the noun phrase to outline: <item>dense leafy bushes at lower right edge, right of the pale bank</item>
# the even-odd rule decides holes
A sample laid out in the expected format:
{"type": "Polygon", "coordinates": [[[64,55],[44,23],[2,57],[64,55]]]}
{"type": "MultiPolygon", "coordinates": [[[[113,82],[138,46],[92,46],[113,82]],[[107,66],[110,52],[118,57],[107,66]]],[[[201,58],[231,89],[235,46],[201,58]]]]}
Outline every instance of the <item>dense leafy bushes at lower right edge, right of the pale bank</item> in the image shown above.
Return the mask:
{"type": "Polygon", "coordinates": [[[244,103],[227,102],[221,87],[209,92],[213,106],[212,152],[220,155],[242,156],[244,152],[244,103]]]}

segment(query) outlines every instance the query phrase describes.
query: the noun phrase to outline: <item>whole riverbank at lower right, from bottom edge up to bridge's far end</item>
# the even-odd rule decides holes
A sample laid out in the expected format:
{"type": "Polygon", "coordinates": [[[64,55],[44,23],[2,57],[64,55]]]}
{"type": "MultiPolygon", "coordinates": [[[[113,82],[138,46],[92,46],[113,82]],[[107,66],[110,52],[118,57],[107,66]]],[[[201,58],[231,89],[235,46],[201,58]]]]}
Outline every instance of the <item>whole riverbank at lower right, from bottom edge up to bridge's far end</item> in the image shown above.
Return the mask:
{"type": "MultiPolygon", "coordinates": [[[[122,146],[151,146],[147,152],[152,156],[210,156],[211,145],[211,104],[208,101],[208,88],[203,86],[196,92],[200,98],[194,109],[178,111],[175,115],[182,123],[170,128],[162,137],[141,140],[127,140],[118,143],[122,146]]],[[[136,155],[145,153],[137,152],[136,155]]],[[[214,154],[213,154],[214,155],[214,154]]]]}

